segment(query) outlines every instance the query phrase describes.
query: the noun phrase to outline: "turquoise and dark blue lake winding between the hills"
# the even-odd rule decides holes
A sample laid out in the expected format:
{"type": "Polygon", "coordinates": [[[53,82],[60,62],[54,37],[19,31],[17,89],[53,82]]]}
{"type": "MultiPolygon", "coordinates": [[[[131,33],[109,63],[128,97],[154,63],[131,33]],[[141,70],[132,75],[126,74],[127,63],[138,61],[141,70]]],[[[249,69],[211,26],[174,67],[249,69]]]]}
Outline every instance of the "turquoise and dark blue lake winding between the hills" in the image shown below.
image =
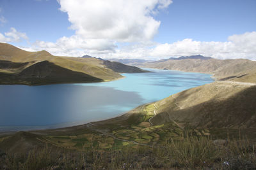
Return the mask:
{"type": "Polygon", "coordinates": [[[116,117],[141,104],[211,83],[210,74],[148,69],[102,83],[0,85],[0,131],[45,129],[116,117]]]}

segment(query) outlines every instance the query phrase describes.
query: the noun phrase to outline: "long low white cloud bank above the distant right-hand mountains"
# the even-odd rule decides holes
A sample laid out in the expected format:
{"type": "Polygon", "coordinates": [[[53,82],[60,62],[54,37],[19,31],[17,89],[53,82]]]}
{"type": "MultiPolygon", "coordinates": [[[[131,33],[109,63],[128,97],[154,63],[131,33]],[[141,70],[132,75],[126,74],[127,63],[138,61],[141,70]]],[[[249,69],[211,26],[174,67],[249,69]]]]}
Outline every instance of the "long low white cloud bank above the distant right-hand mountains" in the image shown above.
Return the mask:
{"type": "Polygon", "coordinates": [[[157,45],[149,53],[150,56],[157,58],[195,54],[218,59],[256,60],[256,32],[229,36],[226,42],[183,39],[172,44],[157,45]]]}

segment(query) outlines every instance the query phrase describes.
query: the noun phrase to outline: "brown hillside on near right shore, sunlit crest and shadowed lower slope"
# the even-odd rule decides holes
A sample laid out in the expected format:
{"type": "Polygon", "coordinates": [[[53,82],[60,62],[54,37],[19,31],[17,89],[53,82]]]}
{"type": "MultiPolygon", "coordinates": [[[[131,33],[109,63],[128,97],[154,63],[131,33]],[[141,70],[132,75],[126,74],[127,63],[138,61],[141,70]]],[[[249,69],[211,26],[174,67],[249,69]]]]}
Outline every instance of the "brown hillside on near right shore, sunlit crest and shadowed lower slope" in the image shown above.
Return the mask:
{"type": "Polygon", "coordinates": [[[193,127],[256,127],[256,84],[214,82],[157,101],[153,124],[193,127]]]}

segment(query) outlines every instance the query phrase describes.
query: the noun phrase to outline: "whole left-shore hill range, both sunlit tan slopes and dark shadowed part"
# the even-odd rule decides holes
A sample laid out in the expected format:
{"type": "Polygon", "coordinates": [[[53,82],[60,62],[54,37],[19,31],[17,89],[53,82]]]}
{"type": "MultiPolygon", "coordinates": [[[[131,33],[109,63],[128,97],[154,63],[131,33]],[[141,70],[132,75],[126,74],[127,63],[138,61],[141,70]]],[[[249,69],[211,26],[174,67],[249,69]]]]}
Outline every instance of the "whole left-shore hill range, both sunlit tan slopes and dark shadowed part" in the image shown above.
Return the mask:
{"type": "Polygon", "coordinates": [[[121,78],[122,75],[118,73],[144,72],[147,71],[118,62],[112,63],[93,57],[58,57],[44,50],[27,52],[9,44],[0,43],[0,83],[2,84],[33,85],[35,84],[33,82],[36,82],[39,85],[109,81],[121,78]]]}

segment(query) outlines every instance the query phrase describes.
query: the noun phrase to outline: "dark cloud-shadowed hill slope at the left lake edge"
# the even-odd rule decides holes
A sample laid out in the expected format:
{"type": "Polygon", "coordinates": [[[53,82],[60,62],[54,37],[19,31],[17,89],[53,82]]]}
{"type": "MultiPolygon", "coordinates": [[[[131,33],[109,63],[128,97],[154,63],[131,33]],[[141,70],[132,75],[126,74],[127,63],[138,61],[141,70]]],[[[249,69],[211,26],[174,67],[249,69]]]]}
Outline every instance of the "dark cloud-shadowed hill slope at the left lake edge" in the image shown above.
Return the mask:
{"type": "Polygon", "coordinates": [[[26,67],[18,74],[0,73],[4,84],[44,85],[48,83],[74,83],[102,81],[88,74],[71,71],[55,64],[42,61],[26,67]]]}

